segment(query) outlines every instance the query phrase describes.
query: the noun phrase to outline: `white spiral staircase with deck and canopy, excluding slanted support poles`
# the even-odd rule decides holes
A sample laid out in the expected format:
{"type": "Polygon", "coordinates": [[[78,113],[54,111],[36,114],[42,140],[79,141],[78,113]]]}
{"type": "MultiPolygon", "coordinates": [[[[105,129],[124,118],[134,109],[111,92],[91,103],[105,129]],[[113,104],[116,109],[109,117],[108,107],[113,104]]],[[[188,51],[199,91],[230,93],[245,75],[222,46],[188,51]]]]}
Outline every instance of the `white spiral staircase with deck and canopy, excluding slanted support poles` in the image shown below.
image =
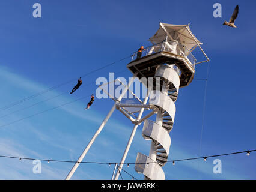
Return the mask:
{"type": "Polygon", "coordinates": [[[160,23],[156,34],[150,38],[152,46],[141,58],[135,58],[127,68],[138,77],[160,78],[161,89],[152,90],[149,104],[157,106],[156,121],[146,119],[142,136],[151,140],[149,155],[138,152],[135,170],[142,173],[145,179],[165,179],[162,167],[168,161],[172,130],[175,118],[175,101],[180,87],[189,85],[195,73],[195,65],[209,62],[209,58],[201,48],[202,44],[192,34],[189,25],[172,25],[160,23]],[[205,61],[196,62],[192,51],[199,47],[205,61]]]}

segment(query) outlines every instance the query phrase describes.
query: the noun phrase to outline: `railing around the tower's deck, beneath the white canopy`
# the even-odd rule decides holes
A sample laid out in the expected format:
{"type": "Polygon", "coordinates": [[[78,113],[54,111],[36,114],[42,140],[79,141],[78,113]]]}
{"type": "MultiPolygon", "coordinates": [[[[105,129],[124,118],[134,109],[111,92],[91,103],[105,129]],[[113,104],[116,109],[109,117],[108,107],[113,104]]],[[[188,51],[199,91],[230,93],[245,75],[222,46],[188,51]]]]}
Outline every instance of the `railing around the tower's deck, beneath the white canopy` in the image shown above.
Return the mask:
{"type": "Polygon", "coordinates": [[[197,59],[190,50],[187,49],[185,44],[177,43],[177,41],[162,41],[161,43],[148,46],[142,51],[141,56],[138,55],[138,52],[133,53],[132,61],[159,52],[169,52],[174,55],[182,56],[189,61],[193,68],[195,68],[197,59]]]}

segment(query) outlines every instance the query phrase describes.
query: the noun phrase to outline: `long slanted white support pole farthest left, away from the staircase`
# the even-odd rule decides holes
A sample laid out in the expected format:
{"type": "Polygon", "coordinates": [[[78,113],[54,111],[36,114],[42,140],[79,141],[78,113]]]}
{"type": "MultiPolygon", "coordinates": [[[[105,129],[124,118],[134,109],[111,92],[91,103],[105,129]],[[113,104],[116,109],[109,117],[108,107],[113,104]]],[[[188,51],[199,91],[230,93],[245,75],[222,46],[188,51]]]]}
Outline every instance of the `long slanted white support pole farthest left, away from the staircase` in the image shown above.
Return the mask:
{"type": "MultiPolygon", "coordinates": [[[[120,97],[118,97],[117,102],[120,102],[121,99],[124,97],[124,94],[126,94],[127,90],[129,89],[130,85],[132,85],[135,77],[137,76],[138,73],[135,73],[133,75],[133,78],[130,80],[129,84],[126,86],[125,91],[122,92],[122,94],[120,95],[120,97]]],[[[112,113],[115,110],[115,104],[112,106],[111,110],[109,111],[108,115],[106,116],[106,118],[103,120],[102,124],[100,125],[100,127],[98,128],[98,130],[96,131],[96,133],[94,134],[94,136],[91,138],[90,142],[88,143],[87,147],[84,149],[84,151],[82,152],[82,154],[80,155],[80,157],[78,158],[78,160],[76,161],[75,165],[72,167],[72,169],[70,170],[69,174],[66,176],[66,180],[69,180],[72,175],[75,173],[76,169],[79,166],[79,163],[84,159],[85,155],[87,154],[88,150],[91,148],[91,145],[93,145],[94,140],[96,139],[97,136],[99,136],[100,132],[102,131],[103,127],[105,126],[106,122],[108,122],[108,119],[110,118],[110,116],[112,115],[112,113]]]]}

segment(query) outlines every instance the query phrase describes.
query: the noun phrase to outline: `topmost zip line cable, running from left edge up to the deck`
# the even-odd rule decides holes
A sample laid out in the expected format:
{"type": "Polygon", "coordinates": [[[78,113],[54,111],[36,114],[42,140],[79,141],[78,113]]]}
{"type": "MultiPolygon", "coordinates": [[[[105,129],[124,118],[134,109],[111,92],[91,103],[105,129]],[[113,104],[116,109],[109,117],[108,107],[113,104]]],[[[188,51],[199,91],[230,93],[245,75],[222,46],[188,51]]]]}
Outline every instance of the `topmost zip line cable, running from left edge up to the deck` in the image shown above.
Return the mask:
{"type": "MultiPolygon", "coordinates": [[[[127,56],[127,57],[125,57],[125,58],[123,58],[123,59],[120,59],[120,60],[118,60],[118,61],[112,62],[112,63],[110,63],[110,64],[107,64],[107,65],[105,65],[105,66],[103,66],[103,67],[97,68],[96,70],[93,70],[93,71],[90,71],[89,73],[83,74],[83,75],[80,76],[80,77],[85,77],[85,76],[88,76],[88,75],[91,74],[91,73],[95,73],[95,72],[97,72],[97,71],[103,70],[103,68],[106,68],[106,67],[109,67],[109,66],[111,66],[111,65],[114,65],[114,64],[116,64],[117,62],[121,62],[121,61],[123,61],[124,59],[127,59],[127,58],[130,58],[130,56],[127,56]]],[[[76,79],[75,79],[75,78],[74,78],[74,79],[70,79],[70,80],[68,80],[67,82],[60,83],[59,85],[52,86],[52,87],[49,88],[49,89],[46,89],[46,90],[41,91],[41,92],[38,92],[38,93],[36,93],[36,94],[34,94],[34,95],[31,95],[31,96],[29,96],[29,97],[23,98],[22,100],[19,100],[19,101],[15,101],[15,102],[13,102],[13,103],[10,103],[10,104],[8,104],[7,106],[1,107],[1,108],[0,108],[0,111],[5,110],[5,109],[8,109],[8,108],[13,107],[13,106],[16,106],[17,104],[23,103],[24,101],[30,100],[31,98],[34,98],[34,97],[37,97],[37,96],[39,96],[39,95],[45,94],[46,92],[52,91],[53,89],[59,88],[59,87],[64,86],[64,85],[67,85],[68,83],[71,83],[71,82],[73,82],[74,80],[77,80],[77,78],[76,78],[76,79]]]]}

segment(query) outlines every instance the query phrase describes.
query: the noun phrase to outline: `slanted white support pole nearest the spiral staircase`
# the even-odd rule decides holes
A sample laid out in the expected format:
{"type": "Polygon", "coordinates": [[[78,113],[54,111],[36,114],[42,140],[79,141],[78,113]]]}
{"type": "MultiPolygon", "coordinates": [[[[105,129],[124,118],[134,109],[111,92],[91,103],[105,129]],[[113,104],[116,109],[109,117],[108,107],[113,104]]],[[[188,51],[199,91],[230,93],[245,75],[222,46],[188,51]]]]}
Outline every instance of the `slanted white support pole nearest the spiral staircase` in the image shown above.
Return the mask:
{"type": "MultiPolygon", "coordinates": [[[[149,86],[147,97],[145,97],[145,100],[143,101],[143,104],[147,103],[148,97],[149,97],[149,94],[150,94],[150,91],[151,91],[151,88],[153,88],[153,86],[149,86]]],[[[142,113],[144,112],[144,109],[145,108],[141,108],[141,110],[139,111],[139,115],[138,115],[138,118],[137,118],[138,121],[141,119],[141,116],[142,116],[142,113]]],[[[119,175],[121,173],[121,170],[123,168],[123,163],[126,160],[128,151],[130,149],[130,145],[132,144],[132,140],[133,140],[133,137],[135,136],[137,128],[138,128],[138,124],[134,125],[133,130],[132,130],[132,134],[130,134],[130,139],[129,139],[128,143],[127,143],[126,149],[124,150],[124,154],[123,154],[123,157],[121,159],[120,166],[117,169],[118,171],[117,171],[117,173],[115,175],[115,180],[118,180],[118,177],[119,177],[119,175]]]]}

